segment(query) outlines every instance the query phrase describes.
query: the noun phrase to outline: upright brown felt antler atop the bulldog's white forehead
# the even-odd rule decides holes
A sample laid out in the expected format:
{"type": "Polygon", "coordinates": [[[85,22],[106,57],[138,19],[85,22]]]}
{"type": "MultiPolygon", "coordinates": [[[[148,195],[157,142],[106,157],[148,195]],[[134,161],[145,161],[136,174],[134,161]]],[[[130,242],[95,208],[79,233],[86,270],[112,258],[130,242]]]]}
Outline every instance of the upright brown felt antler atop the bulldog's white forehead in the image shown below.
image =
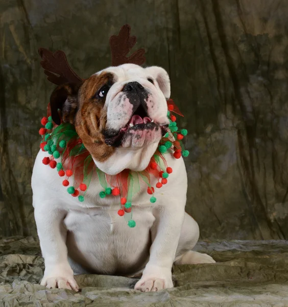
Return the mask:
{"type": "Polygon", "coordinates": [[[144,48],[138,49],[131,56],[127,57],[127,54],[136,43],[136,37],[130,36],[130,31],[130,26],[125,25],[121,28],[118,35],[112,35],[110,37],[109,41],[113,66],[125,63],[133,63],[137,65],[145,63],[146,58],[144,48]]]}

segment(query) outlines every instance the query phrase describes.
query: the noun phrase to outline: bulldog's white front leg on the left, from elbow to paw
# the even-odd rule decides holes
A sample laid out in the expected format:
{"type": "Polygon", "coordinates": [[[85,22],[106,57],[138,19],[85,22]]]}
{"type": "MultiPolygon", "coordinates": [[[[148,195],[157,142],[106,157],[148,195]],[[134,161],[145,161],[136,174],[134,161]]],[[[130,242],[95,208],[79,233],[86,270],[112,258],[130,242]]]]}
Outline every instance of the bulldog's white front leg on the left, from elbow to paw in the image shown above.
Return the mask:
{"type": "Polygon", "coordinates": [[[78,291],[67,258],[66,229],[63,224],[65,212],[51,205],[34,206],[37,232],[45,262],[42,286],[78,291]]]}

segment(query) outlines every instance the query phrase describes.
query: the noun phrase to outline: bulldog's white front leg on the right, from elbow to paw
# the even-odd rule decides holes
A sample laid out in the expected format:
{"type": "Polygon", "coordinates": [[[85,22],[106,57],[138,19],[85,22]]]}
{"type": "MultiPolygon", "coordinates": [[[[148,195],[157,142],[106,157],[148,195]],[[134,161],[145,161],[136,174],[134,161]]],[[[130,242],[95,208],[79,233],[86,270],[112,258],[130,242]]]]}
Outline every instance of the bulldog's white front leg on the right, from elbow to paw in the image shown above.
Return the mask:
{"type": "Polygon", "coordinates": [[[158,207],[155,216],[149,262],[134,287],[143,292],[173,288],[171,269],[184,220],[184,206],[158,207]]]}

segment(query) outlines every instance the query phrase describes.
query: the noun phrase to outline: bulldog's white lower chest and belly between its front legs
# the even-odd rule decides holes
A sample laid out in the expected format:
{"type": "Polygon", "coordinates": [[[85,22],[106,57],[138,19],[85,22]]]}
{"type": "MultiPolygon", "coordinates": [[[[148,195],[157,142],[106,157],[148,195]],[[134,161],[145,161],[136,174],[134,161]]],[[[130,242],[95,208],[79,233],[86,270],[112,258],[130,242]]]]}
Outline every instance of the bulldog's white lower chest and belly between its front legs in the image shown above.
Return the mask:
{"type": "Polygon", "coordinates": [[[149,257],[155,218],[149,208],[133,208],[133,218],[137,225],[129,228],[115,208],[69,211],[64,220],[69,257],[92,273],[135,272],[149,257]]]}

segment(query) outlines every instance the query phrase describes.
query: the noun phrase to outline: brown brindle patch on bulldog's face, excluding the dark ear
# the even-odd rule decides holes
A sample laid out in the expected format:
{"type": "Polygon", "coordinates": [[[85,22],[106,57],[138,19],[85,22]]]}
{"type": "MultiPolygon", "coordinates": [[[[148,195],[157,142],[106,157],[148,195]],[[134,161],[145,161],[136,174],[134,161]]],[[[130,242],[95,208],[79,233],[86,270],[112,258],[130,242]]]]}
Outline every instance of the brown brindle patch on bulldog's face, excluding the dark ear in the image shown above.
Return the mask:
{"type": "Polygon", "coordinates": [[[75,128],[92,157],[100,162],[107,160],[115,151],[114,147],[105,143],[101,133],[106,126],[107,110],[104,108],[105,98],[97,96],[101,87],[112,79],[111,73],[93,75],[84,81],[78,92],[75,128]]]}

